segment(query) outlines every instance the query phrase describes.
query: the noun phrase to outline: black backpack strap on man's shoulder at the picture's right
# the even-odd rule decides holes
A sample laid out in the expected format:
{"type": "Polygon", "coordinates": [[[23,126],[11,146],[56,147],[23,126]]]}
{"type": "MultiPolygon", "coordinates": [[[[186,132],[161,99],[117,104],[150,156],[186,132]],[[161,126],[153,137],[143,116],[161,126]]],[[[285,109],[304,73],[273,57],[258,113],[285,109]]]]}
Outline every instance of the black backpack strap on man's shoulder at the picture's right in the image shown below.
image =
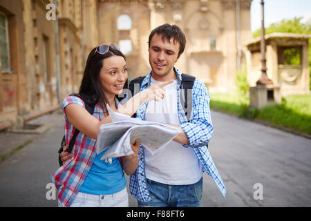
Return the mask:
{"type": "Polygon", "coordinates": [[[192,88],[194,87],[195,79],[196,77],[194,76],[182,74],[182,83],[180,84],[180,102],[188,122],[190,121],[192,111],[192,88]]]}

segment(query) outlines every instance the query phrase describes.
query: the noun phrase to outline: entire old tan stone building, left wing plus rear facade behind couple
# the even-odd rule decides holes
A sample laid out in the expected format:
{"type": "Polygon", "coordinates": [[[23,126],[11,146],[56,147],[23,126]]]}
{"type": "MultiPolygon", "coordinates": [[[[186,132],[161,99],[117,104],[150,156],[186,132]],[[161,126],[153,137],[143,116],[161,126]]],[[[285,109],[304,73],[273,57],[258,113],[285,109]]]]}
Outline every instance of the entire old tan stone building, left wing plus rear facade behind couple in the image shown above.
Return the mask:
{"type": "Polygon", "coordinates": [[[103,42],[120,45],[133,79],[150,70],[151,30],[175,23],[187,37],[176,67],[210,91],[229,92],[252,39],[252,0],[57,0],[58,22],[53,0],[11,2],[0,0],[0,129],[59,108],[103,42]]]}

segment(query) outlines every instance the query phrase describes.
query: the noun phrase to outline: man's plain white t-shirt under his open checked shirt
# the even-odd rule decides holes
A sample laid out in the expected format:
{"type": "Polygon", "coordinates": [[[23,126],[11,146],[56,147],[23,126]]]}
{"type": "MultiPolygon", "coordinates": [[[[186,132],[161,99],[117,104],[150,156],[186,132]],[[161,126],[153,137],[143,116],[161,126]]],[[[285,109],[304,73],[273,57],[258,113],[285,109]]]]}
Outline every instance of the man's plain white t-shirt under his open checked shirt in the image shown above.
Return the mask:
{"type": "MultiPolygon", "coordinates": [[[[158,84],[151,77],[151,85],[158,84]]],[[[177,108],[177,80],[165,86],[165,96],[160,102],[149,102],[144,119],[151,122],[179,125],[177,108]]],[[[144,148],[144,168],[149,180],[163,184],[194,184],[202,177],[202,167],[192,148],[171,141],[153,154],[144,148]]]]}

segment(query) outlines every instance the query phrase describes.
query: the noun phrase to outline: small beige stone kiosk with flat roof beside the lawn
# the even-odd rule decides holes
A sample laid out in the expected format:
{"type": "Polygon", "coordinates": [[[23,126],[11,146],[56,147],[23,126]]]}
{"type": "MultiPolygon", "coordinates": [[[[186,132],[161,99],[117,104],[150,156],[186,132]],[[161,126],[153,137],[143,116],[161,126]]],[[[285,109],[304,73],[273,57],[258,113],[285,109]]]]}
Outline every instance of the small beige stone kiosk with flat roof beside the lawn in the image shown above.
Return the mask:
{"type": "Polygon", "coordinates": [[[247,42],[247,80],[250,106],[263,108],[281,103],[281,97],[310,93],[308,39],[311,35],[272,33],[265,35],[267,77],[272,84],[258,85],[261,77],[261,37],[247,42]]]}

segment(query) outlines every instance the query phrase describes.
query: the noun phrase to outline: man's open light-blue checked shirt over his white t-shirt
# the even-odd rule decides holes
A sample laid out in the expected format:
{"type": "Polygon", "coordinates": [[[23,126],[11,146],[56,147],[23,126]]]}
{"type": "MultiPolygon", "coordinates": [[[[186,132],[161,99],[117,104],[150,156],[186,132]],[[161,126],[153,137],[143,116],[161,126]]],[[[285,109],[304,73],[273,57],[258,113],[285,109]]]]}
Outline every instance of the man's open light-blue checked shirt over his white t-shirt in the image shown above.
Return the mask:
{"type": "MultiPolygon", "coordinates": [[[[181,74],[177,68],[174,68],[177,73],[178,80],[178,117],[180,121],[180,127],[185,131],[189,145],[183,145],[185,148],[193,148],[194,153],[200,160],[203,171],[206,171],[208,175],[213,177],[218,189],[223,193],[225,197],[226,189],[223,184],[223,180],[218,173],[216,166],[211,159],[211,155],[207,149],[207,144],[211,139],[211,135],[214,131],[214,126],[211,123],[211,113],[209,111],[209,93],[205,84],[202,81],[196,79],[192,89],[192,111],[190,121],[187,121],[185,111],[180,104],[180,84],[181,74]]],[[[140,86],[140,91],[148,88],[151,82],[151,72],[144,78],[140,86]]],[[[147,109],[147,104],[144,103],[137,111],[137,118],[144,119],[144,113],[147,109]]],[[[130,177],[130,192],[135,199],[140,202],[148,202],[151,200],[149,192],[146,186],[146,178],[144,176],[144,149],[140,146],[138,151],[138,169],[130,177]]],[[[178,163],[178,162],[176,162],[178,163]]]]}

